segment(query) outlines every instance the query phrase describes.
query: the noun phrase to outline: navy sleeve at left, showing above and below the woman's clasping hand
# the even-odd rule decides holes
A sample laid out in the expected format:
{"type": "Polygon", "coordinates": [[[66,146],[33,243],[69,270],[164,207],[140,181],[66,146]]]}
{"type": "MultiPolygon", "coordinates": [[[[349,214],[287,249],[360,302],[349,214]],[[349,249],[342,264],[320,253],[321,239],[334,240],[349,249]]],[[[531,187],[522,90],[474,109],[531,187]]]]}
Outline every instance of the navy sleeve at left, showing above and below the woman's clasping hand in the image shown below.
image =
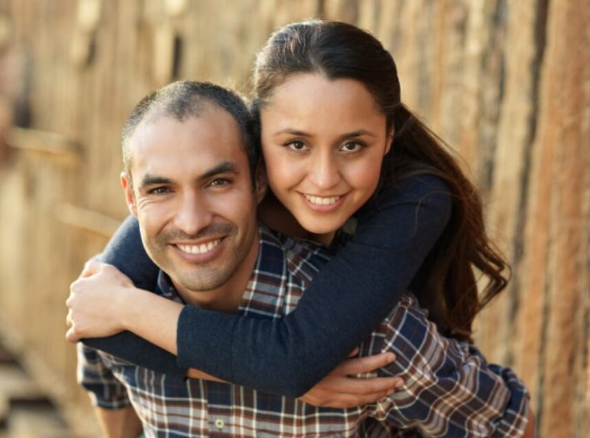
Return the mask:
{"type": "MultiPolygon", "coordinates": [[[[155,291],[159,268],[144,250],[137,220],[130,216],[115,232],[100,256],[133,280],[133,283],[148,291],[155,291]]],[[[138,337],[132,332],[121,332],[111,337],[82,339],[82,343],[102,350],[157,372],[183,376],[184,370],[177,365],[176,356],[138,337]]]]}

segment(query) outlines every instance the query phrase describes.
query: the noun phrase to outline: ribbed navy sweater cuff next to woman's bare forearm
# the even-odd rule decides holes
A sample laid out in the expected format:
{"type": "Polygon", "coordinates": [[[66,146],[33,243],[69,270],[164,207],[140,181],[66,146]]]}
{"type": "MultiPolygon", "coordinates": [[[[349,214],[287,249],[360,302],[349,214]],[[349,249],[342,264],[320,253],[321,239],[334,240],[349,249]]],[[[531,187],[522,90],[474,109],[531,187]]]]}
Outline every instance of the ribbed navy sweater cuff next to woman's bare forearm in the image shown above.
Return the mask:
{"type": "Polygon", "coordinates": [[[177,363],[224,380],[232,380],[231,315],[184,306],[177,326],[177,363]]]}

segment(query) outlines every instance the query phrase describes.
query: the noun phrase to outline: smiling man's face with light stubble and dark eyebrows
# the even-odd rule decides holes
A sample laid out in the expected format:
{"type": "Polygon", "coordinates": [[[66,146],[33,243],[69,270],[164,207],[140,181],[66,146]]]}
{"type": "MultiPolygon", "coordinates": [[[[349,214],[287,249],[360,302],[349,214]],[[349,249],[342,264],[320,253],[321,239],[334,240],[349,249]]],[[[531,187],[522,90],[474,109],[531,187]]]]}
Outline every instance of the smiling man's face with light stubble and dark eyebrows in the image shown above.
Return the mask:
{"type": "Polygon", "coordinates": [[[147,119],[129,151],[133,184],[122,175],[128,206],[146,251],[179,291],[213,291],[240,268],[249,276],[244,262],[258,252],[259,193],[231,115],[207,104],[183,122],[147,119]]]}

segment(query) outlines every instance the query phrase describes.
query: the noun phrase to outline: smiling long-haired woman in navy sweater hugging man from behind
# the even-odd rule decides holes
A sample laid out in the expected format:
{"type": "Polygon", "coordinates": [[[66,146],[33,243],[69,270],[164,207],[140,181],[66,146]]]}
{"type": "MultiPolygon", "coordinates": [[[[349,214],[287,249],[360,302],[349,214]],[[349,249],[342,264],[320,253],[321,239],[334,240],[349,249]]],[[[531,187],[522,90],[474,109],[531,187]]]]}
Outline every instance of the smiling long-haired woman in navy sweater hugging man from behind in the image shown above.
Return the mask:
{"type": "MultiPolygon", "coordinates": [[[[155,333],[145,319],[128,328],[177,353],[180,367],[288,396],[304,393],[342,361],[407,289],[440,332],[470,342],[473,318],[506,286],[506,263],[486,237],[475,188],[442,142],[402,105],[389,52],[352,25],[296,23],[273,34],[262,49],[254,84],[253,114],[273,191],[260,218],[271,228],[326,245],[341,243],[339,230],[352,223],[352,240],[282,320],[184,306],[161,317],[166,324],[159,326],[172,328],[172,336],[155,333]],[[331,101],[317,108],[306,104],[336,83],[343,84],[340,95],[359,101],[336,99],[348,105],[343,108],[330,106],[331,101]],[[355,104],[362,110],[354,117],[370,114],[356,124],[345,111],[355,104]],[[481,298],[473,267],[489,279],[481,298]],[[273,365],[266,363],[269,351],[273,365]]],[[[104,260],[138,287],[154,289],[157,269],[142,252],[133,220],[113,238],[104,260]]],[[[100,304],[102,315],[117,314],[115,308],[104,311],[111,300],[93,301],[98,296],[80,294],[76,306],[100,304]]],[[[154,298],[135,296],[146,302],[154,298]]],[[[156,302],[157,297],[153,306],[156,302]]],[[[123,324],[117,324],[121,330],[123,324]]],[[[152,369],[178,372],[170,356],[142,354],[152,347],[131,334],[119,336],[90,345],[152,369]]]]}

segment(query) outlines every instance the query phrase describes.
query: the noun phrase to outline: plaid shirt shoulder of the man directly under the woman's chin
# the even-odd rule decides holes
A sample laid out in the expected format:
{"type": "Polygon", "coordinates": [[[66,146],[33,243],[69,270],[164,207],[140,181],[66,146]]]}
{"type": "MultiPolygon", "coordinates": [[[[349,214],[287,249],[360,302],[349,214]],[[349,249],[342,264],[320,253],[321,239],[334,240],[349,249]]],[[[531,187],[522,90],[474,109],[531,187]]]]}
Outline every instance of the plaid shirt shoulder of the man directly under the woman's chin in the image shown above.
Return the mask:
{"type": "Polygon", "coordinates": [[[285,236],[265,226],[260,227],[260,235],[262,245],[280,250],[286,275],[303,282],[304,287],[331,258],[328,250],[315,242],[285,236]]]}

